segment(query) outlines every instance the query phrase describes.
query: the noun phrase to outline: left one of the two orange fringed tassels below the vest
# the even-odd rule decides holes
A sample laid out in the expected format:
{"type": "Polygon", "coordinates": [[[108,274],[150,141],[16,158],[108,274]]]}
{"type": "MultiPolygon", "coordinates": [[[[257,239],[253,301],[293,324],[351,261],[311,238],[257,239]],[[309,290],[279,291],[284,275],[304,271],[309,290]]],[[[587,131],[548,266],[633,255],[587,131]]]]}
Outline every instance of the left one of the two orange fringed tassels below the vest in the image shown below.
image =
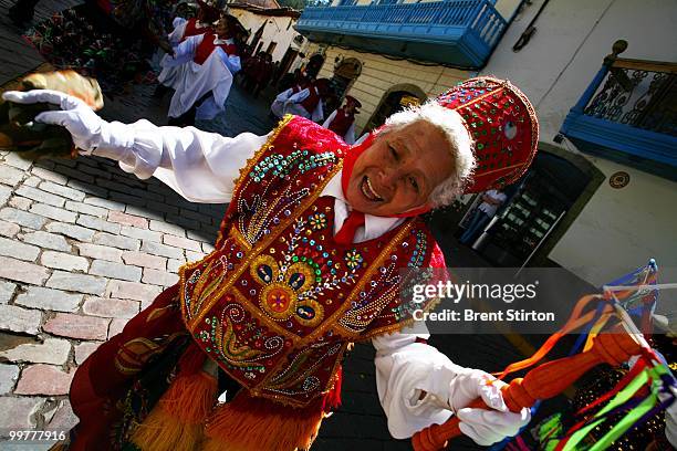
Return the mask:
{"type": "Polygon", "coordinates": [[[216,392],[216,379],[204,371],[178,377],[136,428],[132,442],[144,451],[198,449],[216,392]]]}

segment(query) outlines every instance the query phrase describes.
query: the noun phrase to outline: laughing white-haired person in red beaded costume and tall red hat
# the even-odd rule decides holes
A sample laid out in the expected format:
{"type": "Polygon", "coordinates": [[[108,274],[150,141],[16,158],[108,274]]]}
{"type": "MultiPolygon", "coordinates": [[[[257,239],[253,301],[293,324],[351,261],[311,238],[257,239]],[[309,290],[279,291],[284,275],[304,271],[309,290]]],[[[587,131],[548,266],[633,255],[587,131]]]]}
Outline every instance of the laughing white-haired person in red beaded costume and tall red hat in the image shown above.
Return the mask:
{"type": "Polygon", "coordinates": [[[357,146],[298,116],[228,138],[107,123],[55,92],[4,97],[60,105],[37,120],[66,127],[84,154],[196,202],[230,201],[216,250],[77,370],[71,450],[306,450],[364,340],[395,438],[456,415],[487,445],[529,420],[488,374],[403,333],[413,305],[398,295],[399,270],[444,266],[418,214],[528,169],[538,124],[509,82],[466,81],[357,146]],[[466,408],[477,397],[491,409],[466,408]]]}

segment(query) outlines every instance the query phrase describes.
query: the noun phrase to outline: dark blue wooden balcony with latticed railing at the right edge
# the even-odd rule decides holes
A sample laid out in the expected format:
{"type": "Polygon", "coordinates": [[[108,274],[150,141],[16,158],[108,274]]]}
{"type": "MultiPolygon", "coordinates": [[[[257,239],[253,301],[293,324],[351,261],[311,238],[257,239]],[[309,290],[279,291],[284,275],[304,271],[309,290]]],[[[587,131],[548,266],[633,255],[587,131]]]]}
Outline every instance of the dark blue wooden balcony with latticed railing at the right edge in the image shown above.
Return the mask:
{"type": "Polygon", "coordinates": [[[614,52],[560,133],[587,154],[677,180],[677,64],[619,59],[614,52]]]}

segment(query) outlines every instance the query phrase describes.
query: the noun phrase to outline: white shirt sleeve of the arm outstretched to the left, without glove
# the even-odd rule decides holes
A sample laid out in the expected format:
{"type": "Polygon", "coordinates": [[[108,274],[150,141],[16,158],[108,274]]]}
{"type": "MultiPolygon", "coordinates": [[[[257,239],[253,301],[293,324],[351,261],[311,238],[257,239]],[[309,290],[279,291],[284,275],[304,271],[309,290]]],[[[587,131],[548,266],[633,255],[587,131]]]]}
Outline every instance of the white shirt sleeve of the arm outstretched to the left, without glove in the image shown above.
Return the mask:
{"type": "Polygon", "coordinates": [[[112,125],[133,144],[98,148],[93,155],[119,161],[123,170],[138,178],[155,176],[187,200],[205,203],[230,201],[240,168],[268,138],[251,133],[229,138],[195,127],[158,127],[145,119],[112,125]]]}

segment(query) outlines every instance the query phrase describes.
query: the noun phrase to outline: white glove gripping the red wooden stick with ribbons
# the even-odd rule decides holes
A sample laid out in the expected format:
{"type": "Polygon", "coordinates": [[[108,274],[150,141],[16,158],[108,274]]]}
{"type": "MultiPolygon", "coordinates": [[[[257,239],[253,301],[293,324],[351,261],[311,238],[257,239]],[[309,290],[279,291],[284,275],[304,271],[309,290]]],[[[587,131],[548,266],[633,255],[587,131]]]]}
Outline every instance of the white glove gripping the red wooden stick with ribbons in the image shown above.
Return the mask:
{"type": "Polygon", "coordinates": [[[501,395],[501,387],[506,384],[494,380],[493,376],[485,371],[461,374],[451,385],[455,387],[449,405],[460,420],[459,429],[477,444],[488,447],[506,437],[515,436],[531,420],[528,408],[519,413],[508,410],[501,395]],[[464,407],[476,398],[481,398],[493,410],[464,407]]]}

